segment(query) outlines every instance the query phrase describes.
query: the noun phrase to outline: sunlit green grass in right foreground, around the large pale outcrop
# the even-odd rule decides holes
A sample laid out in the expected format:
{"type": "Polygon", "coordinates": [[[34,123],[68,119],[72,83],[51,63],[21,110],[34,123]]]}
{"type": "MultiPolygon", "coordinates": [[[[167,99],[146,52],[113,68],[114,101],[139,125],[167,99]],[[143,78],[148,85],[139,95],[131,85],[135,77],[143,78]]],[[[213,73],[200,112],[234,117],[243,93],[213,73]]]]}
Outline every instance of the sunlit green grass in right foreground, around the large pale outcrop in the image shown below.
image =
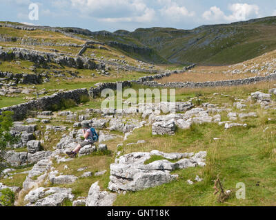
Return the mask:
{"type": "MultiPolygon", "coordinates": [[[[276,147],[275,137],[262,133],[264,125],[258,125],[249,129],[234,128],[224,131],[223,126],[201,124],[194,126],[190,131],[177,131],[177,134],[172,137],[155,137],[156,140],[148,140],[149,143],[146,146],[136,146],[136,151],[145,148],[164,150],[166,145],[169,151],[204,150],[208,152],[207,166],[176,170],[173,172],[179,175],[176,181],[119,195],[115,206],[270,206],[275,204],[276,165],[272,158],[272,149],[276,147]],[[219,137],[221,141],[215,142],[213,137],[219,137]],[[159,144],[152,146],[152,142],[159,144]],[[228,203],[217,203],[217,197],[213,195],[213,180],[218,174],[226,189],[235,188],[237,183],[244,182],[246,199],[238,200],[231,197],[228,203]],[[204,181],[193,186],[186,184],[187,179],[193,180],[196,175],[204,178],[204,181]],[[260,181],[260,186],[256,186],[257,181],[260,181]]],[[[148,133],[144,131],[144,137],[146,135],[148,133]]],[[[136,137],[132,137],[129,141],[134,139],[137,140],[136,137]]],[[[126,151],[133,151],[133,148],[126,151]]]]}

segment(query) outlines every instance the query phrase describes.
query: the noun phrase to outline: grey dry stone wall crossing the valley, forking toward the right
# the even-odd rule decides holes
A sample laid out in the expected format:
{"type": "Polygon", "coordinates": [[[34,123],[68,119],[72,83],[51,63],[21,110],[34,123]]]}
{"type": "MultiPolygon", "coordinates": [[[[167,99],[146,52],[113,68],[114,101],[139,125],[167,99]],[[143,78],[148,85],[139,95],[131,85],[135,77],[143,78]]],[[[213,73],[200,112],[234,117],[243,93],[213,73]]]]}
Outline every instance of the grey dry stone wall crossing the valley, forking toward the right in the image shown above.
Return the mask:
{"type": "MultiPolygon", "coordinates": [[[[184,70],[191,69],[195,67],[195,65],[191,65],[189,67],[184,67],[184,70]]],[[[117,82],[122,84],[122,88],[131,87],[132,83],[138,83],[141,85],[146,85],[149,87],[175,87],[175,88],[199,88],[199,87],[224,87],[224,86],[237,86],[237,85],[247,85],[252,83],[258,83],[261,81],[267,80],[276,80],[276,74],[270,74],[268,76],[256,76],[252,78],[244,78],[238,80],[224,80],[224,81],[216,81],[216,82],[204,82],[204,83],[166,83],[160,84],[154,82],[157,78],[163,78],[170,76],[171,74],[179,74],[183,71],[172,71],[166,72],[164,74],[156,74],[154,76],[144,76],[139,78],[138,80],[128,80],[124,82],[117,82]]],[[[14,120],[22,120],[28,114],[30,110],[48,110],[50,106],[53,104],[61,104],[61,100],[64,99],[72,99],[76,102],[79,102],[80,97],[83,95],[90,96],[92,98],[97,98],[101,96],[101,91],[103,89],[117,89],[117,83],[97,83],[94,87],[90,87],[89,91],[87,89],[75,89],[72,91],[59,92],[57,94],[53,94],[52,96],[45,96],[43,98],[39,98],[38,100],[32,100],[30,102],[25,102],[22,104],[17,104],[12,107],[6,107],[0,109],[0,113],[3,111],[13,111],[14,112],[14,120]]]]}

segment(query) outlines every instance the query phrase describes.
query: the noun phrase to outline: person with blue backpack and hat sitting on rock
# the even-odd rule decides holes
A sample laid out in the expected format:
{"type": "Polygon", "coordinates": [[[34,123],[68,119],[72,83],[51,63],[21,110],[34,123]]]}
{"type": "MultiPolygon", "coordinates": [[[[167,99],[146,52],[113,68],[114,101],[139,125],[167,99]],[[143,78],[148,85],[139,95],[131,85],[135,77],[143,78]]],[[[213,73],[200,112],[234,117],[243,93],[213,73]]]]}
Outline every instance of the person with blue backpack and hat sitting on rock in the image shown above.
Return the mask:
{"type": "Polygon", "coordinates": [[[84,141],[77,145],[77,147],[67,154],[69,157],[76,157],[77,153],[79,153],[79,150],[86,145],[93,144],[99,140],[99,135],[97,134],[96,130],[93,127],[90,127],[87,122],[82,123],[81,127],[83,128],[83,137],[84,141]]]}

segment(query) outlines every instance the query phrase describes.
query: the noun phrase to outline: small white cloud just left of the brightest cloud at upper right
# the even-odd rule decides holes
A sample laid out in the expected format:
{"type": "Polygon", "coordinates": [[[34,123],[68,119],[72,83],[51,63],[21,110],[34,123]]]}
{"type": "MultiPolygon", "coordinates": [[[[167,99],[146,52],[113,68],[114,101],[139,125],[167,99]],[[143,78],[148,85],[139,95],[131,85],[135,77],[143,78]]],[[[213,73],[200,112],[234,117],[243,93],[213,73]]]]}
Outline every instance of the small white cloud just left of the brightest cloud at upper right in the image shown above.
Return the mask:
{"type": "Polygon", "coordinates": [[[167,5],[160,10],[163,17],[170,21],[181,21],[186,17],[195,16],[195,12],[189,12],[184,6],[179,6],[177,3],[167,1],[167,5]]]}

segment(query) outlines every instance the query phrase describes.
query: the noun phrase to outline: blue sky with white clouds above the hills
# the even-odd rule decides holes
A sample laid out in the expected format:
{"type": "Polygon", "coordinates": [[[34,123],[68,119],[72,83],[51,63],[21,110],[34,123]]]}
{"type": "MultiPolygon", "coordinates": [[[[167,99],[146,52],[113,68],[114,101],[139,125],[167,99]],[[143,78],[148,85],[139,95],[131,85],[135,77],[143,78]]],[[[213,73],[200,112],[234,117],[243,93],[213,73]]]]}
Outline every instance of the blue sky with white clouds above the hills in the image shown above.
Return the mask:
{"type": "Polygon", "coordinates": [[[35,25],[129,30],[230,23],[276,16],[275,0],[0,0],[0,21],[35,25]],[[39,6],[39,19],[29,19],[29,5],[39,6]]]}

